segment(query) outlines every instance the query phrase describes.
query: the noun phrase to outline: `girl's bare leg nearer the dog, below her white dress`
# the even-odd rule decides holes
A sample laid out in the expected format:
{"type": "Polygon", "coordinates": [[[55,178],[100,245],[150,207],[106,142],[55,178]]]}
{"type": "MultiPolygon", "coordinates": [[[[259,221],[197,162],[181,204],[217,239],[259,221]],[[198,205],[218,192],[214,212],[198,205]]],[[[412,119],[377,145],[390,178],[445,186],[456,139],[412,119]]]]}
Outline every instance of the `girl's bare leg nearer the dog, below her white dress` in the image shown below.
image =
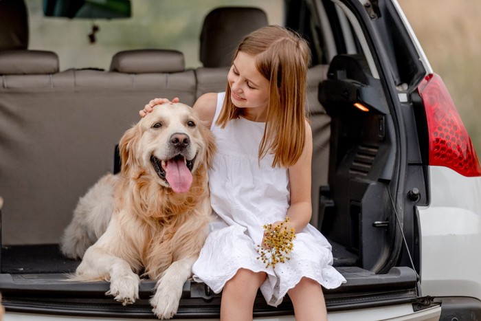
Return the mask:
{"type": "Polygon", "coordinates": [[[252,320],[257,290],[266,276],[265,272],[238,269],[222,291],[221,321],[252,320]]]}

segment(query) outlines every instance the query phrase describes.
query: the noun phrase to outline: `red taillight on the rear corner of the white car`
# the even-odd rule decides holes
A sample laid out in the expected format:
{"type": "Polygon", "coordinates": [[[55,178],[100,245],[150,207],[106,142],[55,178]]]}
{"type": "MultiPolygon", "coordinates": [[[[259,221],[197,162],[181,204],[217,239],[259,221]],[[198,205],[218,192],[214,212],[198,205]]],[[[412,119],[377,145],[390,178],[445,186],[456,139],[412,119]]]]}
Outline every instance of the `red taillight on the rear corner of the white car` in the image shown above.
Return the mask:
{"type": "Polygon", "coordinates": [[[481,176],[471,138],[443,80],[430,74],[421,81],[418,91],[426,110],[429,165],[446,166],[469,177],[481,176]]]}

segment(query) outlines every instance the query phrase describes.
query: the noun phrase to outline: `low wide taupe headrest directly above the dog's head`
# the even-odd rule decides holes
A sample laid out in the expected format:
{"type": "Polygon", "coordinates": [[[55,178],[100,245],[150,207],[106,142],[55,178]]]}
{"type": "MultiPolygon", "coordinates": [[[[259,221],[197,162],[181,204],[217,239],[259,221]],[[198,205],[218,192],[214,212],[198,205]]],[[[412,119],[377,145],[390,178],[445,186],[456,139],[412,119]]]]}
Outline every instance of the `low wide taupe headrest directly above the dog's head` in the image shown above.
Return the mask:
{"type": "Polygon", "coordinates": [[[183,54],[177,50],[137,49],[113,56],[110,71],[125,74],[149,74],[185,71],[183,54]]]}

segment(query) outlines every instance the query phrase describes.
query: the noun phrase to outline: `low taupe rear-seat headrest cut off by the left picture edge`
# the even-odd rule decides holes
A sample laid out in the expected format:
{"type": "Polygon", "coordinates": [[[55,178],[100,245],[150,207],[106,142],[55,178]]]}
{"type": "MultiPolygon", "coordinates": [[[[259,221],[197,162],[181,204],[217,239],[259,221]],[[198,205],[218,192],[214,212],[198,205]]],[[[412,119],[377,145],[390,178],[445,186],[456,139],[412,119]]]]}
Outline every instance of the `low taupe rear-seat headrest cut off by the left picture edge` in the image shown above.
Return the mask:
{"type": "Polygon", "coordinates": [[[0,75],[55,74],[56,72],[58,72],[58,56],[54,52],[41,50],[0,52],[0,75]]]}

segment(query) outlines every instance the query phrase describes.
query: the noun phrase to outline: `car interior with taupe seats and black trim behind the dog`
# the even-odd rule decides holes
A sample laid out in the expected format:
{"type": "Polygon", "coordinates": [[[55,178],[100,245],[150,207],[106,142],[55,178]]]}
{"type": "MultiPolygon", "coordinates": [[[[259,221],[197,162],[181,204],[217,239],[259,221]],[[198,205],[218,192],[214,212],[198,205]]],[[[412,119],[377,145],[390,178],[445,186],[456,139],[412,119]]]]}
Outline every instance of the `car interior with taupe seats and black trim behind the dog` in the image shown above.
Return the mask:
{"type": "MultiPolygon", "coordinates": [[[[10,14],[0,19],[0,261],[13,289],[20,278],[76,269],[79,261],[60,254],[60,236],[79,197],[115,170],[115,146],[144,104],[179,97],[192,105],[203,93],[224,91],[236,44],[268,21],[258,8],[216,8],[199,30],[203,66],[195,69],[186,69],[182,52],[145,48],[118,52],[107,71],[59,70],[55,52],[29,49],[25,3],[0,1],[2,10],[10,14]]],[[[384,200],[395,167],[379,79],[363,54],[313,59],[307,96],[314,139],[311,223],[331,242],[333,265],[348,278],[327,293],[334,298],[366,285],[390,291],[396,282],[414,287],[411,269],[378,273],[392,250],[392,204],[384,200]],[[344,96],[349,102],[372,97],[366,99],[375,108],[360,111],[344,96]]]]}

